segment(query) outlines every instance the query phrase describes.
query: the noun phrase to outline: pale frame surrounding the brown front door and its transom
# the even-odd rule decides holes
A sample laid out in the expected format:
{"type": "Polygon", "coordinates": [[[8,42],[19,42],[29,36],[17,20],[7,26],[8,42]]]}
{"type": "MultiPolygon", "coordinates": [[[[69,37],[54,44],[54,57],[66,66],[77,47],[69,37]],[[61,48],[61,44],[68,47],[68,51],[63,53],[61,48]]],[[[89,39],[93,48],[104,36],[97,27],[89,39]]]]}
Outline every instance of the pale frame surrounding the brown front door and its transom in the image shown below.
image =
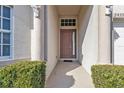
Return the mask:
{"type": "Polygon", "coordinates": [[[59,60],[64,61],[64,60],[73,60],[77,61],[78,60],[78,22],[77,22],[77,17],[61,17],[59,18],[59,60]],[[76,26],[61,26],[60,22],[61,19],[76,19],[76,26]],[[75,29],[76,31],[76,58],[60,58],[60,30],[61,29],[75,29]]]}

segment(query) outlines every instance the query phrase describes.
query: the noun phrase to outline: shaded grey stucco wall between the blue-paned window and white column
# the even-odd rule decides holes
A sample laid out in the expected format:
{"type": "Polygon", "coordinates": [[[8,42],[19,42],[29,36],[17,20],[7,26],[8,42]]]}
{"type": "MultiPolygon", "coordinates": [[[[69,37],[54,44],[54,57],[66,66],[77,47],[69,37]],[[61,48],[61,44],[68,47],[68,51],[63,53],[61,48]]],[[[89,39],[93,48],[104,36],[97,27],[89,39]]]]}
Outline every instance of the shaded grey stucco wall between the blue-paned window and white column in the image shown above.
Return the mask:
{"type": "Polygon", "coordinates": [[[14,60],[30,59],[32,11],[27,5],[16,5],[14,17],[14,60]]]}

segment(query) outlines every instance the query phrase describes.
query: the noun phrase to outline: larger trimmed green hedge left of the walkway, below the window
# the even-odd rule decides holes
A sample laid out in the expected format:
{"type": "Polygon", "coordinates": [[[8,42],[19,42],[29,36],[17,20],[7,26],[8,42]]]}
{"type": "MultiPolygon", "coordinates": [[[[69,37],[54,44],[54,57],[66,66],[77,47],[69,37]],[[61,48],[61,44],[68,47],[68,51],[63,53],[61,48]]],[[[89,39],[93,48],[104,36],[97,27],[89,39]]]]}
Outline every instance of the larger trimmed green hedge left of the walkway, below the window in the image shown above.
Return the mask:
{"type": "Polygon", "coordinates": [[[43,88],[45,62],[21,61],[0,68],[1,88],[43,88]]]}

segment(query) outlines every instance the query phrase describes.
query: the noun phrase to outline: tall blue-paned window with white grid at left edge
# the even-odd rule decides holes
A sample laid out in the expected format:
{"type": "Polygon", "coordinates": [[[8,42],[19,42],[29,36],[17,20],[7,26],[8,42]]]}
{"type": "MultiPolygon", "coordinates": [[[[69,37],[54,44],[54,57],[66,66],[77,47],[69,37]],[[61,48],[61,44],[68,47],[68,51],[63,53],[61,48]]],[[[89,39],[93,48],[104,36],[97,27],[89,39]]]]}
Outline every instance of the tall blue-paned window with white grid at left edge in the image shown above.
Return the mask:
{"type": "Polygon", "coordinates": [[[0,58],[11,56],[11,7],[0,5],[0,58]]]}

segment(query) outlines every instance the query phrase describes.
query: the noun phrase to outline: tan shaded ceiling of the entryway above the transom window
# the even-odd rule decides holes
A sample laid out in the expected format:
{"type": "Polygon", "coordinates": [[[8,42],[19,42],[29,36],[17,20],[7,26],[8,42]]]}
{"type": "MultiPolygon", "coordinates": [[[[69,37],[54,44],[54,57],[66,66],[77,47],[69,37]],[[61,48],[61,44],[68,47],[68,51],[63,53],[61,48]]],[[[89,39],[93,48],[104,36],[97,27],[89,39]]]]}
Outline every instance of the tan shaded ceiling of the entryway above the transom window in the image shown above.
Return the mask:
{"type": "Polygon", "coordinates": [[[76,16],[80,11],[80,5],[57,5],[57,11],[60,16],[76,16]]]}

